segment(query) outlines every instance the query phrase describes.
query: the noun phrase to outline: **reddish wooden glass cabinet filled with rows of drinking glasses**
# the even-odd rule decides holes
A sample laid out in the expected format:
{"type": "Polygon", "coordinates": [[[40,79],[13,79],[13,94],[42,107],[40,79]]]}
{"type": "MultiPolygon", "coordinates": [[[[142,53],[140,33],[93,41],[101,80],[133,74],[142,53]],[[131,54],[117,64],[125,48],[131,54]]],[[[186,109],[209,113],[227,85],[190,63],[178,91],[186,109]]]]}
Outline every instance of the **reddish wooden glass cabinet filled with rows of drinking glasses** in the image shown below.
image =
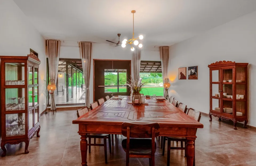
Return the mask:
{"type": "Polygon", "coordinates": [[[39,59],[26,56],[0,56],[1,59],[1,148],[5,144],[25,142],[29,153],[30,139],[40,137],[38,67],[39,59]]]}

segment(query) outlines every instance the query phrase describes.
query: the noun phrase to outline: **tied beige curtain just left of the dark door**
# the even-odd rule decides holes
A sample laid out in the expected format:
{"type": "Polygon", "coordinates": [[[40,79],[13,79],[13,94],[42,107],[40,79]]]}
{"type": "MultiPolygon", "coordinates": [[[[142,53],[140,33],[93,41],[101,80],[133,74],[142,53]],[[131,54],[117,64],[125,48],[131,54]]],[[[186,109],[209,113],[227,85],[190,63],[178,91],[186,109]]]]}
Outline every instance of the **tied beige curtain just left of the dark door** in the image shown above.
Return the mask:
{"type": "Polygon", "coordinates": [[[85,106],[90,107],[90,73],[91,73],[91,42],[79,42],[79,53],[82,59],[83,75],[85,79],[85,106]]]}

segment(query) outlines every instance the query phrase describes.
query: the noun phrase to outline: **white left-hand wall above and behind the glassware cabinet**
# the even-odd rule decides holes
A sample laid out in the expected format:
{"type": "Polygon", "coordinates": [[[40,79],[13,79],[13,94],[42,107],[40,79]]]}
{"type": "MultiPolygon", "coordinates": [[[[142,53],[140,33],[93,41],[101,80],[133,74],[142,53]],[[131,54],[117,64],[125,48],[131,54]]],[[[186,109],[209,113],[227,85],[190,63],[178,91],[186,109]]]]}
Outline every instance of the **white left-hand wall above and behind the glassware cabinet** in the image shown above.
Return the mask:
{"type": "Polygon", "coordinates": [[[0,0],[0,55],[27,56],[30,48],[38,53],[39,65],[39,110],[46,103],[44,79],[46,79],[45,39],[28,21],[12,0],[0,0]]]}

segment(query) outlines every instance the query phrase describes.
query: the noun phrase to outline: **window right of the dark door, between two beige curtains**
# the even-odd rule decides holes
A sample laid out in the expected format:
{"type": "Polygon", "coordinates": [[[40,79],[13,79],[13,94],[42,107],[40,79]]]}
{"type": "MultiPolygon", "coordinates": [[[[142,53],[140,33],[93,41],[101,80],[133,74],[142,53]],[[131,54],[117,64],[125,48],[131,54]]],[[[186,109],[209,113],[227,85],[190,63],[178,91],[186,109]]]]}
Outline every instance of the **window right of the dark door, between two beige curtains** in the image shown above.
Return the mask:
{"type": "Polygon", "coordinates": [[[159,61],[141,61],[140,79],[145,86],[141,90],[144,95],[163,96],[163,76],[161,62],[159,61]]]}

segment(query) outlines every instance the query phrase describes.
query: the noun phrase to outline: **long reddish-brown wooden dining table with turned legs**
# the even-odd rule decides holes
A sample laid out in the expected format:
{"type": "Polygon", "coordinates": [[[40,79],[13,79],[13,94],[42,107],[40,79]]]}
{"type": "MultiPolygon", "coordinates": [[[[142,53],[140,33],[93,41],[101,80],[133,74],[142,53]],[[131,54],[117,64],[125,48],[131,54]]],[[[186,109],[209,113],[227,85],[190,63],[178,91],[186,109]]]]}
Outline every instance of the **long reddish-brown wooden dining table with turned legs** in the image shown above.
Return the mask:
{"type": "Polygon", "coordinates": [[[82,166],[87,166],[86,134],[122,134],[121,125],[123,122],[158,122],[160,124],[159,136],[186,137],[187,166],[193,165],[196,131],[197,128],[203,128],[203,124],[189,117],[168,100],[158,101],[152,97],[147,97],[145,103],[148,104],[134,106],[128,103],[131,102],[130,96],[123,97],[119,100],[107,100],[97,108],[73,120],[73,124],[79,124],[82,166]]]}

